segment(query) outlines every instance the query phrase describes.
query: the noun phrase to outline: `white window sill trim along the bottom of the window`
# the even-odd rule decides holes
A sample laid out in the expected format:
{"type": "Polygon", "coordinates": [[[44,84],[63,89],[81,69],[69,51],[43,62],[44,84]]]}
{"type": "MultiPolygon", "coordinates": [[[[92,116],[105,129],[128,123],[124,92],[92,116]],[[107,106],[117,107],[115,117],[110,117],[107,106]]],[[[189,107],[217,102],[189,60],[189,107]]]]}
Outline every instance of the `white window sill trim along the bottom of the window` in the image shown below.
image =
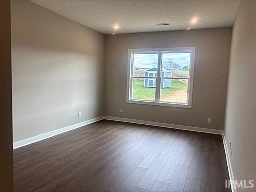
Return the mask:
{"type": "Polygon", "coordinates": [[[144,105],[157,105],[157,106],[168,106],[168,107],[179,107],[179,108],[191,108],[191,103],[190,104],[181,104],[181,103],[141,101],[141,100],[126,100],[126,103],[144,104],[144,105]]]}

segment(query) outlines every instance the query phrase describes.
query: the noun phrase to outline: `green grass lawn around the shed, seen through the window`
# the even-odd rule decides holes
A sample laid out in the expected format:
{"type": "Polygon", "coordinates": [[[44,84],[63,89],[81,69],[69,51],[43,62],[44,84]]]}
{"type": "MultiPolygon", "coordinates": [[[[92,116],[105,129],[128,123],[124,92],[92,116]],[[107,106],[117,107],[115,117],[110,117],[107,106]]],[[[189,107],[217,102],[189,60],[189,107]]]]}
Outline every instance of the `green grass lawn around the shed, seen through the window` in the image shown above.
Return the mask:
{"type": "MultiPolygon", "coordinates": [[[[173,91],[184,89],[187,87],[187,83],[181,80],[172,80],[172,86],[170,88],[161,88],[161,95],[168,94],[173,91]]],[[[155,97],[156,88],[144,87],[143,79],[135,79],[133,81],[133,99],[150,99],[155,97]]],[[[154,99],[153,99],[154,100],[154,99]]]]}

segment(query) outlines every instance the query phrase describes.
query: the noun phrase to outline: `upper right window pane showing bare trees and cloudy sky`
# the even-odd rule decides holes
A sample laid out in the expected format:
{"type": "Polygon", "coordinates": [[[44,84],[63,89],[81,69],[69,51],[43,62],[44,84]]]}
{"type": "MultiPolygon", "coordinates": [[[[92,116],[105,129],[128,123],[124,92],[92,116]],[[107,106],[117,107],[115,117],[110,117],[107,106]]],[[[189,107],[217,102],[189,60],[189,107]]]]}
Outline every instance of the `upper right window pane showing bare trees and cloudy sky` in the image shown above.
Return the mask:
{"type": "Polygon", "coordinates": [[[163,53],[161,77],[189,77],[190,53],[163,53]]]}

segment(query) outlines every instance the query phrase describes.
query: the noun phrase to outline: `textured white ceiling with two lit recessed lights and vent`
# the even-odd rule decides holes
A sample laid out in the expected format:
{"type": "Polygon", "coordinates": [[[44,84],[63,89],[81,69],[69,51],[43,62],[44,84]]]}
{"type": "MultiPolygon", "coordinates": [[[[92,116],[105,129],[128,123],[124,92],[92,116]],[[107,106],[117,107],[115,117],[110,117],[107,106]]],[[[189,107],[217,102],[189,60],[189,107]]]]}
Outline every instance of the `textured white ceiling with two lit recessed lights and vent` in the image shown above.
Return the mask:
{"type": "Polygon", "coordinates": [[[240,0],[31,0],[103,34],[232,26],[240,0]],[[196,24],[190,20],[198,18],[196,24]],[[156,23],[170,22],[169,26],[156,23]],[[115,30],[113,25],[119,25],[115,30]]]}

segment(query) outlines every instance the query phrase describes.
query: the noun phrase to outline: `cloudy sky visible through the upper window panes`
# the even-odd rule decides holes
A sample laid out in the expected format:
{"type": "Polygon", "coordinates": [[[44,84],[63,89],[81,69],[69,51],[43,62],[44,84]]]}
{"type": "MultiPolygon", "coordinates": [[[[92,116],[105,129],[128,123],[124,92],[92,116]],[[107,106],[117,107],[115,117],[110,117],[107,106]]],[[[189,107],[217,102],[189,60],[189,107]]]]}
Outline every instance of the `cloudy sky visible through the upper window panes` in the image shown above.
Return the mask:
{"type": "MultiPolygon", "coordinates": [[[[190,53],[164,53],[162,62],[166,63],[169,58],[182,67],[189,66],[190,53]]],[[[134,68],[157,67],[158,54],[134,54],[134,68]]]]}

